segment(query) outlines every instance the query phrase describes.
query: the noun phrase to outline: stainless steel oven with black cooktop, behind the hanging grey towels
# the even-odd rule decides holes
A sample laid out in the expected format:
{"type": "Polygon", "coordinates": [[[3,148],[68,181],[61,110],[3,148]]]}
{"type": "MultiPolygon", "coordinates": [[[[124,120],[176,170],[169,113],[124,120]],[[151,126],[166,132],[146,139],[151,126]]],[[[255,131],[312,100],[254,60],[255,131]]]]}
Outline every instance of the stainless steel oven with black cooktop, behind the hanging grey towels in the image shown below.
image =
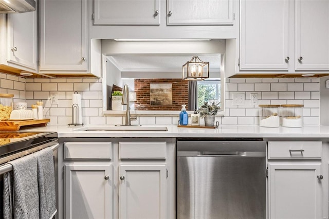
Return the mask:
{"type": "MultiPolygon", "coordinates": [[[[0,197],[3,192],[3,174],[12,171],[7,164],[10,160],[20,158],[33,152],[50,147],[53,150],[56,199],[58,200],[58,135],[56,132],[0,132],[0,197]]],[[[2,201],[0,202],[2,203],[2,201]]],[[[3,218],[0,206],[0,218],[3,218]]],[[[58,203],[57,203],[58,209],[58,203]]],[[[56,218],[57,215],[56,215],[56,218]]]]}

